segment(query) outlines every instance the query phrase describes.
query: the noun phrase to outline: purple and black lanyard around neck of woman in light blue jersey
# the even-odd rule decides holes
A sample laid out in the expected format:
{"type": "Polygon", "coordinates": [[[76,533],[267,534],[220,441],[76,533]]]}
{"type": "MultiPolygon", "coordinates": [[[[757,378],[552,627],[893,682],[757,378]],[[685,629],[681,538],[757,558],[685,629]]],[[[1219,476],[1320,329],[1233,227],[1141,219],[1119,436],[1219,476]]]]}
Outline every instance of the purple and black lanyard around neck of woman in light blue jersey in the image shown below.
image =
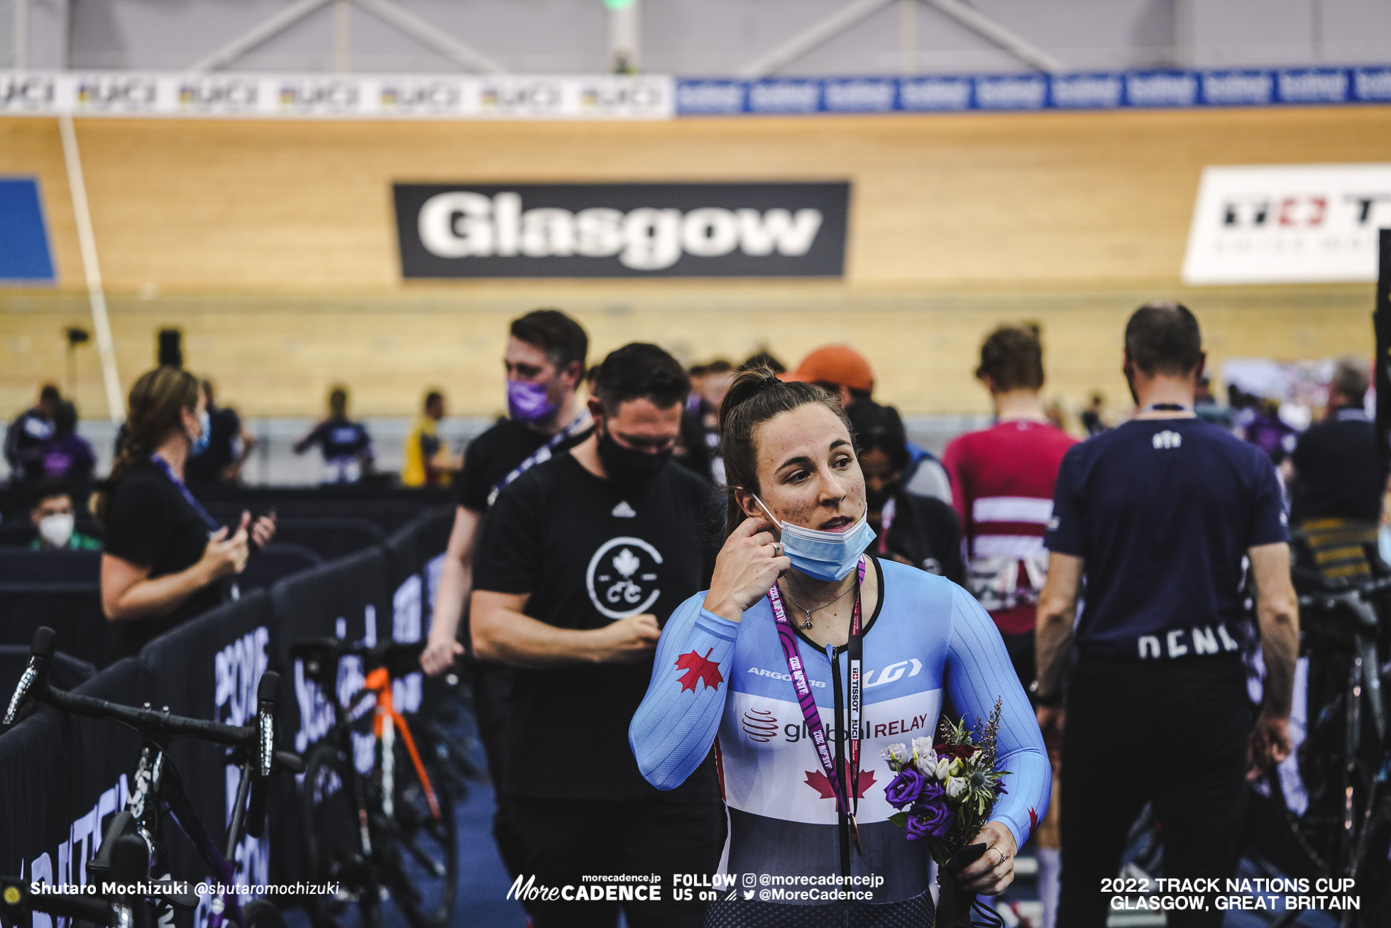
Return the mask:
{"type": "MultiPolygon", "coordinates": [[[[850,683],[847,687],[850,697],[847,719],[850,728],[850,765],[844,771],[836,771],[836,761],[830,754],[830,742],[826,737],[825,726],[821,723],[821,712],[817,711],[817,700],[811,694],[807,671],[801,665],[801,654],[797,651],[797,633],[787,619],[782,591],[776,583],[768,590],[768,604],[772,607],[773,619],[778,623],[778,640],[782,644],[783,658],[787,661],[787,673],[791,676],[793,689],[797,691],[801,717],[807,722],[807,733],[811,736],[811,743],[817,749],[817,758],[821,761],[826,779],[830,782],[830,789],[836,796],[836,807],[850,819],[850,835],[861,857],[864,856],[864,847],[860,843],[860,825],[855,821],[855,813],[860,810],[860,712],[861,691],[864,689],[864,675],[861,673],[864,664],[864,633],[860,627],[860,587],[864,579],[865,561],[860,558],[855,575],[855,605],[850,614],[850,640],[846,644],[850,657],[850,683]]],[[[832,672],[835,672],[835,668],[832,668],[832,672]]]]}

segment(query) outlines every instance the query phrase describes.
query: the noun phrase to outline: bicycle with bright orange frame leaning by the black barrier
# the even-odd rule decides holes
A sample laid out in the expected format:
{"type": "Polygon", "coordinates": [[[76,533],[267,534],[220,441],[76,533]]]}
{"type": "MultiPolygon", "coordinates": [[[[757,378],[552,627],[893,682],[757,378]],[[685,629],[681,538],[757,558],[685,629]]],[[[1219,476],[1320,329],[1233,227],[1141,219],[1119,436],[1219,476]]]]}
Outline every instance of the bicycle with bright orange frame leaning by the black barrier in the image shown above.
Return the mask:
{"type": "Polygon", "coordinates": [[[306,639],[291,647],[291,657],[303,661],[305,678],[328,694],[334,710],[332,728],[309,751],[300,794],[310,875],[342,888],[338,900],[314,902],[319,928],[339,924],[345,913],[335,906],[348,902],[356,903],[360,924],[369,928],[381,924],[388,897],[415,928],[440,928],[453,909],[459,860],[453,797],[442,787],[448,739],[413,717],[417,732],[427,732],[421,751],[392,700],[392,680],[419,669],[423,647],[423,641],[369,647],[339,639],[306,639]],[[360,689],[339,700],[344,657],[360,659],[364,676],[360,689]],[[359,746],[371,751],[366,775],[356,762],[359,746]]]}

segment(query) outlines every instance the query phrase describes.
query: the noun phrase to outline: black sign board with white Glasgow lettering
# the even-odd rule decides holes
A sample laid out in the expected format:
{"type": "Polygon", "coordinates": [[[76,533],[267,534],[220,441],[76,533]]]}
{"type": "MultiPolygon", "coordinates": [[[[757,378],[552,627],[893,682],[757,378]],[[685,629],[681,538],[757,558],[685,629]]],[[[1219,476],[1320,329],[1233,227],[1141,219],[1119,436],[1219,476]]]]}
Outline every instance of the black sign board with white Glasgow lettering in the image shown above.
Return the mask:
{"type": "Polygon", "coordinates": [[[420,277],[840,277],[850,184],[396,184],[420,277]]]}

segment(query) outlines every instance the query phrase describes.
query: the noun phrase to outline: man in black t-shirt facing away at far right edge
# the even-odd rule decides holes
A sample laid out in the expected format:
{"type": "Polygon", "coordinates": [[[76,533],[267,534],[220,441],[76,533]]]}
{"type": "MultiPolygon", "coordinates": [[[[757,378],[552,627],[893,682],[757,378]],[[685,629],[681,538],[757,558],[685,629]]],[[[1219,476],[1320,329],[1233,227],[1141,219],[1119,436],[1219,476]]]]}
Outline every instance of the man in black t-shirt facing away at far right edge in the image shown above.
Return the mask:
{"type": "Polygon", "coordinates": [[[1346,519],[1369,527],[1381,520],[1387,474],[1377,459],[1377,430],[1363,412],[1367,365],[1345,358],[1328,384],[1328,415],[1299,437],[1291,455],[1291,518],[1346,519]]]}

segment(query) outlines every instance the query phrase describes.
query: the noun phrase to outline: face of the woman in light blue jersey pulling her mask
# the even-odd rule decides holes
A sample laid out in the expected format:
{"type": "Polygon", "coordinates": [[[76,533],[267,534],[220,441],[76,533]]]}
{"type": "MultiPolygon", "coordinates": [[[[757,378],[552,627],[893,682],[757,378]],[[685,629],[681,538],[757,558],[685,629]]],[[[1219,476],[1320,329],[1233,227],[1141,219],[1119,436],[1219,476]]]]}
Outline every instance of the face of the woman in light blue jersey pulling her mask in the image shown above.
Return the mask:
{"type": "MultiPolygon", "coordinates": [[[[758,497],[779,522],[846,531],[865,513],[865,481],[844,423],[821,403],[773,416],[754,430],[758,497]]],[[[768,516],[741,491],[740,506],[768,516]]]]}

